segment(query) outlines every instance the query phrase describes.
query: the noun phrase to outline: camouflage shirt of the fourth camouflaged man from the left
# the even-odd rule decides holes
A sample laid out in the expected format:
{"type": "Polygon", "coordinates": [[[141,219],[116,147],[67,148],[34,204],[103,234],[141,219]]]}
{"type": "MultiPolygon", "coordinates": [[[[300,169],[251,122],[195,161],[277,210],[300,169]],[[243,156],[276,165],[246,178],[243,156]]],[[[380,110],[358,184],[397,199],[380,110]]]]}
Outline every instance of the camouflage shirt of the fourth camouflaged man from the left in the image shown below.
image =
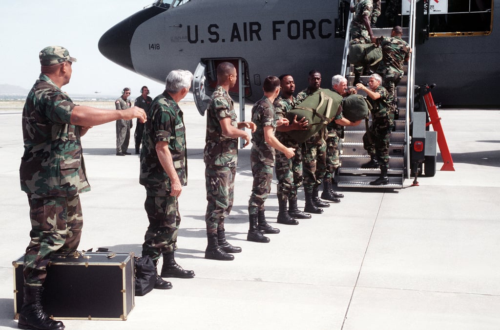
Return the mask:
{"type": "Polygon", "coordinates": [[[274,165],[274,148],[265,142],[264,127],[272,126],[272,133],[276,130],[274,107],[265,96],[257,101],[251,109],[251,121],[255,123],[255,132],[251,134],[250,160],[262,162],[265,165],[274,165]]]}

